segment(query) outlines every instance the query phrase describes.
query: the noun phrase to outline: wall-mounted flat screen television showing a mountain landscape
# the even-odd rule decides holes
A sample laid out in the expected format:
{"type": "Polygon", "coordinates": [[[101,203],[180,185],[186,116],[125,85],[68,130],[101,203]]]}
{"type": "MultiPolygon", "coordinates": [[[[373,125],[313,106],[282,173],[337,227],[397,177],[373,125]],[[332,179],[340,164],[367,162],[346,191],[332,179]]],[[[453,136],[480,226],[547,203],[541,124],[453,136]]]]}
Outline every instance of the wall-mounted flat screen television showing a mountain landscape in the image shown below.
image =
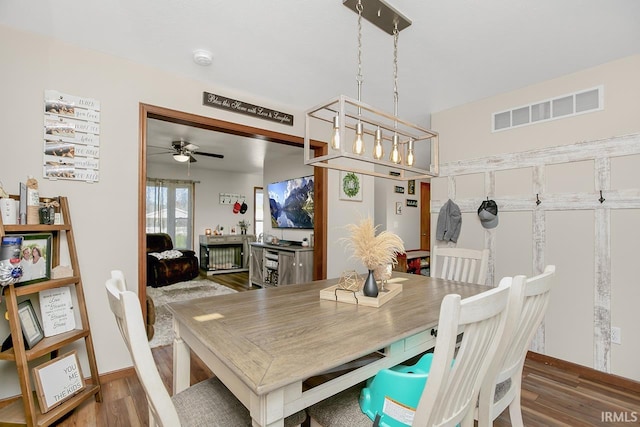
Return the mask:
{"type": "Polygon", "coordinates": [[[313,228],[313,175],[267,186],[272,228],[313,228]]]}

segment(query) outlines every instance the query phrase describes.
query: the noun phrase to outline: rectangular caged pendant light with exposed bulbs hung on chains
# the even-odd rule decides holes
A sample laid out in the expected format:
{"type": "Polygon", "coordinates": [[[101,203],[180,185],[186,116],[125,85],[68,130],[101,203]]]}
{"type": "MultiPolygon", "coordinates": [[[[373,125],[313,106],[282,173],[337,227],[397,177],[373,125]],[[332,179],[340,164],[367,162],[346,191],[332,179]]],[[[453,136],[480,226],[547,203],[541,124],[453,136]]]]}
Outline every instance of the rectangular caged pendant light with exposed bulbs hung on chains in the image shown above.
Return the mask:
{"type": "Polygon", "coordinates": [[[304,163],[399,181],[438,176],[437,132],[398,117],[398,35],[411,21],[384,0],[343,0],[343,4],[358,15],[358,99],[339,95],[306,112],[304,163]],[[361,99],[362,18],[393,36],[393,114],[361,99]],[[327,129],[324,135],[322,129],[327,129]],[[314,156],[311,139],[328,140],[327,154],[311,157],[314,156]],[[345,147],[347,140],[353,143],[345,147]],[[388,157],[385,145],[389,147],[388,157]]]}

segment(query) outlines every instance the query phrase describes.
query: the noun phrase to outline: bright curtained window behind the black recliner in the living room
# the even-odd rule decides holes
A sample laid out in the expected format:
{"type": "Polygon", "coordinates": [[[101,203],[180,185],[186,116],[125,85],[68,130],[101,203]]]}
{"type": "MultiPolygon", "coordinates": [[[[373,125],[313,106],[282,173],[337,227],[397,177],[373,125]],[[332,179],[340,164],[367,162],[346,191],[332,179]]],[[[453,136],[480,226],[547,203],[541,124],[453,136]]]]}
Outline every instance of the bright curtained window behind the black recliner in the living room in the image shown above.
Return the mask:
{"type": "Polygon", "coordinates": [[[174,248],[193,247],[193,181],[147,179],[147,233],[167,233],[174,248]]]}

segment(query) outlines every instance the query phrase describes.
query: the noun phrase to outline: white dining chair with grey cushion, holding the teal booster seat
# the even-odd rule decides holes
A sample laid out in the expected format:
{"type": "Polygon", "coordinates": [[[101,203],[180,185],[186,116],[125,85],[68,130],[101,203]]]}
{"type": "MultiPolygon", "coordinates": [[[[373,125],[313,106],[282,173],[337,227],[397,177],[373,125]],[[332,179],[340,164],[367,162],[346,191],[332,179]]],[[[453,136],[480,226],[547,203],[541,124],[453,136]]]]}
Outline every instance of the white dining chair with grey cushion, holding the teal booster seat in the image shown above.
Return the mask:
{"type": "MultiPolygon", "coordinates": [[[[389,402],[406,417],[405,425],[473,426],[480,384],[504,330],[509,285],[503,283],[464,300],[455,294],[443,299],[433,361],[417,408],[389,402]],[[456,353],[461,327],[465,333],[456,353]]],[[[309,407],[311,426],[370,427],[372,420],[362,413],[358,401],[361,389],[362,385],[351,387],[309,407]]],[[[392,416],[378,415],[380,426],[392,416]]]]}

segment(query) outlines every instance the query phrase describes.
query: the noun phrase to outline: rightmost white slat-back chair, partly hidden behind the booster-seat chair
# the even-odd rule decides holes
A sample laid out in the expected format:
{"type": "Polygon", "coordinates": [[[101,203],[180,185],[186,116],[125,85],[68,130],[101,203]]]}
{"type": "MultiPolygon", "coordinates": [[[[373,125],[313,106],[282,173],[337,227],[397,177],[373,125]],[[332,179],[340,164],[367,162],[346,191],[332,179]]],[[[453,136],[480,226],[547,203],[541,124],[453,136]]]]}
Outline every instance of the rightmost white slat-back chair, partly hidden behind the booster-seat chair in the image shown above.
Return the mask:
{"type": "Polygon", "coordinates": [[[511,333],[505,333],[498,347],[497,356],[489,367],[480,388],[477,420],[478,426],[491,426],[507,407],[512,426],[523,426],[520,393],[522,369],[527,351],[549,305],[551,286],[556,268],[549,265],[542,274],[525,278],[513,278],[510,311],[507,323],[513,325],[511,333]]]}

